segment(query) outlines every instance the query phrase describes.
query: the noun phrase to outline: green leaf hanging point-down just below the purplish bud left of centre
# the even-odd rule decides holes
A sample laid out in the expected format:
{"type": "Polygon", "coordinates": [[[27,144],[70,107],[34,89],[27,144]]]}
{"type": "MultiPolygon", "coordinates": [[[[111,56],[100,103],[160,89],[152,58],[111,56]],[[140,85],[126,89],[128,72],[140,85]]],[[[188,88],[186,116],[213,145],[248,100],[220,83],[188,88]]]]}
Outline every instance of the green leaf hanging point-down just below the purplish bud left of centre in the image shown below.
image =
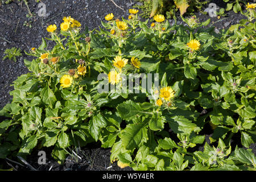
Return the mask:
{"type": "Polygon", "coordinates": [[[105,118],[101,114],[93,115],[93,118],[89,121],[89,133],[93,139],[97,142],[100,137],[100,129],[107,125],[105,118]]]}

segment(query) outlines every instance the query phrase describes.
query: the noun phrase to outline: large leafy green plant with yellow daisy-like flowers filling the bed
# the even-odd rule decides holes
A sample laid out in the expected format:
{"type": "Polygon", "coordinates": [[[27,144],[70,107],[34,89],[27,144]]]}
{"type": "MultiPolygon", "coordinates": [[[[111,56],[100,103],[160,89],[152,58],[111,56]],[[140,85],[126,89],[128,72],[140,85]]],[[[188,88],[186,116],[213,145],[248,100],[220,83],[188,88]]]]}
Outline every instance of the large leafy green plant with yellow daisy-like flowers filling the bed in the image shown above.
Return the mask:
{"type": "Polygon", "coordinates": [[[216,34],[202,28],[210,19],[170,26],[158,14],[148,27],[138,10],[129,13],[106,15],[100,30],[81,32],[70,16],[60,31],[47,27],[55,47],[42,39],[27,53],[36,57],[24,60],[30,73],[0,111],[9,118],[0,123],[0,158],[52,147],[63,161],[69,148],[100,141],[112,162],[134,170],[255,170],[250,15],[216,34]]]}

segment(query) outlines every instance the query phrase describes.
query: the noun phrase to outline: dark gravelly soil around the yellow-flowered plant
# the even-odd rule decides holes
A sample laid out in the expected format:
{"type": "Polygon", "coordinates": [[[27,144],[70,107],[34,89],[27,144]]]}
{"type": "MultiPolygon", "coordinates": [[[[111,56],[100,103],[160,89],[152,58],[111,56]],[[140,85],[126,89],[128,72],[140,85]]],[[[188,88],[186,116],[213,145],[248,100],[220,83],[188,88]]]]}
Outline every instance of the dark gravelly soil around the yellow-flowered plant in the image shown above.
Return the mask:
{"type": "MultiPolygon", "coordinates": [[[[24,3],[14,0],[9,5],[0,5],[0,109],[7,103],[11,102],[11,96],[9,92],[13,90],[13,86],[10,86],[16,78],[24,73],[28,72],[28,69],[24,66],[23,60],[32,60],[33,57],[25,55],[24,51],[29,52],[32,47],[39,47],[42,43],[42,38],[47,37],[48,33],[46,27],[49,24],[56,24],[60,26],[63,16],[72,16],[79,20],[82,24],[82,29],[86,26],[89,30],[98,28],[101,26],[101,20],[104,20],[106,14],[113,13],[115,17],[127,18],[129,15],[128,9],[134,5],[134,0],[114,0],[114,2],[120,6],[119,9],[110,0],[42,0],[46,5],[46,16],[39,16],[38,11],[39,3],[35,0],[29,1],[29,8],[31,13],[35,16],[27,18],[28,10],[24,3]],[[31,28],[26,26],[24,22],[29,22],[31,28]],[[7,48],[20,48],[22,50],[22,56],[18,57],[16,63],[11,60],[2,60],[5,56],[4,51],[7,48]]],[[[226,4],[222,0],[212,1],[217,6],[225,7],[226,4]]],[[[207,8],[208,5],[205,7],[207,8]]],[[[232,24],[236,24],[240,19],[244,18],[241,14],[235,14],[233,11],[226,13],[227,16],[217,19],[217,17],[211,18],[209,26],[215,26],[216,32],[222,28],[228,28],[232,24]]],[[[209,15],[202,13],[196,13],[197,18],[201,21],[207,20],[209,15]]],[[[174,23],[174,20],[170,20],[170,23],[174,23]]],[[[183,23],[180,18],[177,21],[178,24],[183,23]]],[[[49,43],[48,47],[52,44],[49,43]]],[[[0,122],[2,119],[0,118],[0,122]]],[[[255,144],[251,146],[255,153],[255,144]]],[[[27,157],[28,163],[38,170],[60,171],[60,170],[131,170],[131,168],[119,168],[116,163],[110,163],[110,149],[100,148],[100,145],[88,146],[88,148],[82,148],[77,151],[77,154],[81,159],[72,159],[68,156],[63,166],[60,166],[54,159],[51,158],[51,152],[47,152],[47,164],[38,164],[38,151],[35,151],[27,157]]],[[[23,167],[7,160],[0,160],[0,164],[7,162],[12,164],[14,168],[18,170],[30,170],[26,165],[23,167]]],[[[10,166],[6,166],[10,168],[10,166]]]]}

